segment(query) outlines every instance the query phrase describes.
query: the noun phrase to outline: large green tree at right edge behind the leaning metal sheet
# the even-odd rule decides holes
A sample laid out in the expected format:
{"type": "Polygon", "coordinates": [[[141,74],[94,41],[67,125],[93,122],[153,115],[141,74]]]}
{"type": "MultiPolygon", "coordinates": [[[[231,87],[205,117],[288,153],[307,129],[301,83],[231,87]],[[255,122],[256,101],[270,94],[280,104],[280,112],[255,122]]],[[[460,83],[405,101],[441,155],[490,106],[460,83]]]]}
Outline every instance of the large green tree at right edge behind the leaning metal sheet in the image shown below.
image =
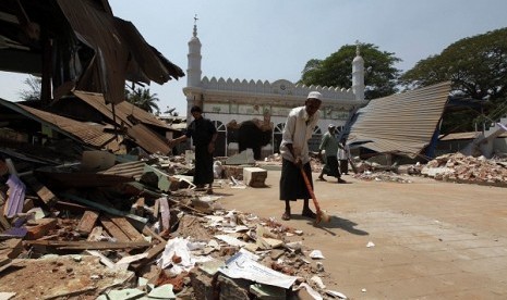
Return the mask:
{"type": "Polygon", "coordinates": [[[507,28],[460,39],[442,53],[419,61],[400,83],[407,89],[451,82],[451,95],[483,101],[479,111],[446,113],[443,130],[471,130],[507,112],[507,28]]]}

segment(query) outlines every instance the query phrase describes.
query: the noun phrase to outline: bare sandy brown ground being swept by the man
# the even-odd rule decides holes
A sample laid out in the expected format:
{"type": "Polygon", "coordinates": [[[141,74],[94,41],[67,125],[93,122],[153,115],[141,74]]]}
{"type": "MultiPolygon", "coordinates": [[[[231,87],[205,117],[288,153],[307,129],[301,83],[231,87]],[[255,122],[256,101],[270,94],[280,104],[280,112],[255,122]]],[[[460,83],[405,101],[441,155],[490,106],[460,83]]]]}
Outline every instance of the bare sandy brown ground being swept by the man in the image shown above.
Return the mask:
{"type": "MultiPolygon", "coordinates": [[[[315,179],[318,174],[314,173],[315,179]]],[[[411,183],[315,182],[329,223],[281,221],[280,172],[266,188],[216,189],[226,209],[275,217],[321,250],[327,289],[350,299],[506,299],[507,189],[407,176],[411,183]],[[370,247],[369,247],[370,246],[370,247]]],[[[329,177],[327,177],[330,179],[329,177]]]]}

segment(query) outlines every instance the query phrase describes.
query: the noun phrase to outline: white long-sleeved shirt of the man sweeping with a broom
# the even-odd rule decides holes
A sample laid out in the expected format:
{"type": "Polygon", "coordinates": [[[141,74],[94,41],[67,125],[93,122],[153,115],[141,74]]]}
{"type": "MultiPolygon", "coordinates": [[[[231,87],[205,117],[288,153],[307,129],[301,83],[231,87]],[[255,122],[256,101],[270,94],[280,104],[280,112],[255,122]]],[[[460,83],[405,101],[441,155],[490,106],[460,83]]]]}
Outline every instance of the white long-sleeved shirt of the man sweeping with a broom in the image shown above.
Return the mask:
{"type": "Polygon", "coordinates": [[[319,115],[321,112],[317,111],[312,116],[309,116],[306,107],[294,108],[290,111],[280,143],[280,154],[283,159],[291,162],[295,161],[295,158],[292,157],[289,148],[287,148],[287,143],[292,143],[294,154],[301,158],[303,164],[310,162],[309,139],[313,135],[319,115]]]}

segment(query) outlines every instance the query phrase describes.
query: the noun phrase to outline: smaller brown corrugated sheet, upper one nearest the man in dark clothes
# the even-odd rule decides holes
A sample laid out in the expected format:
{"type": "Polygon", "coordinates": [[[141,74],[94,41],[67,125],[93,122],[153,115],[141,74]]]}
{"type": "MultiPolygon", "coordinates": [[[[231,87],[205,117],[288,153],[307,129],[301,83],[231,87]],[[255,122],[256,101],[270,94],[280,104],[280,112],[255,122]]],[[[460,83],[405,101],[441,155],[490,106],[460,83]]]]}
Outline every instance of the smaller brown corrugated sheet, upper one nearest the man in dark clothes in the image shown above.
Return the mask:
{"type": "MultiPolygon", "coordinates": [[[[111,104],[106,104],[101,93],[86,92],[82,90],[74,90],[73,93],[81,100],[88,103],[90,107],[95,108],[105,116],[108,116],[110,120],[113,120],[112,107],[111,104]]],[[[114,113],[118,124],[121,124],[121,122],[123,122],[129,126],[133,126],[134,124],[131,122],[129,117],[130,115],[132,115],[143,124],[149,124],[161,128],[170,129],[169,125],[166,122],[156,118],[155,115],[126,101],[117,104],[114,107],[114,113]]]]}

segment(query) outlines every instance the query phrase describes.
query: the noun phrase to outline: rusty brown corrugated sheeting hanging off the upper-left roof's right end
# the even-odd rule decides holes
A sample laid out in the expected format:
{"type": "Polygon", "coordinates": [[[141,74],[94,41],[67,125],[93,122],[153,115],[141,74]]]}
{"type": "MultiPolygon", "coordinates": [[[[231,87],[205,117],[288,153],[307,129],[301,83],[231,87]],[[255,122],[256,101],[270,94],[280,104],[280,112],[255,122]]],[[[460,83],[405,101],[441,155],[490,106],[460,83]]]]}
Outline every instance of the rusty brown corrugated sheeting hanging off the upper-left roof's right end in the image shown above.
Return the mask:
{"type": "Polygon", "coordinates": [[[101,92],[108,103],[120,103],[125,78],[164,84],[184,76],[146,43],[134,25],[97,9],[92,1],[57,1],[77,38],[95,50],[77,89],[101,92]]]}

